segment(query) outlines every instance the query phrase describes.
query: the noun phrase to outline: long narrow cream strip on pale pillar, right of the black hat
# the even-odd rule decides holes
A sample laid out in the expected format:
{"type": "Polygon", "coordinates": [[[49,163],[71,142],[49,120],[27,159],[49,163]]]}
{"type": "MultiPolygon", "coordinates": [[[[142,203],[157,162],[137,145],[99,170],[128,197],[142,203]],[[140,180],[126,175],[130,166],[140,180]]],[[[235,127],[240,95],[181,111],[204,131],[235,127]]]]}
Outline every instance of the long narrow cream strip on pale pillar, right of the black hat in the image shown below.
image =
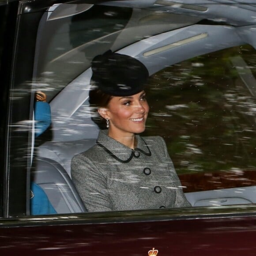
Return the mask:
{"type": "Polygon", "coordinates": [[[175,47],[178,47],[178,46],[181,46],[181,45],[185,45],[185,44],[188,44],[188,43],[206,38],[207,36],[208,36],[207,33],[202,33],[202,34],[190,37],[190,38],[183,39],[181,41],[171,43],[169,45],[164,45],[162,47],[147,51],[147,52],[143,53],[143,56],[148,57],[148,56],[151,56],[153,54],[162,53],[162,52],[167,51],[169,49],[172,49],[172,48],[175,48],[175,47]]]}

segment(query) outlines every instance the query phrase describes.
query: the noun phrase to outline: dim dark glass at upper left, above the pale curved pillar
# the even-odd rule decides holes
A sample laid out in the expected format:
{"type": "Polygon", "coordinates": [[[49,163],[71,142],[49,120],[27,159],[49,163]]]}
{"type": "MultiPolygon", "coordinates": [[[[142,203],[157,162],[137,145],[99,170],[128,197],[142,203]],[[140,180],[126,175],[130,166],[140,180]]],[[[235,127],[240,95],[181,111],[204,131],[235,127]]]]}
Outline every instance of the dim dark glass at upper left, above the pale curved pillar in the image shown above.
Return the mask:
{"type": "Polygon", "coordinates": [[[48,102],[89,68],[96,54],[110,48],[118,50],[151,35],[200,20],[104,5],[93,5],[86,11],[60,19],[50,18],[46,12],[41,19],[34,71],[35,83],[40,84],[41,90],[48,90],[48,102]]]}

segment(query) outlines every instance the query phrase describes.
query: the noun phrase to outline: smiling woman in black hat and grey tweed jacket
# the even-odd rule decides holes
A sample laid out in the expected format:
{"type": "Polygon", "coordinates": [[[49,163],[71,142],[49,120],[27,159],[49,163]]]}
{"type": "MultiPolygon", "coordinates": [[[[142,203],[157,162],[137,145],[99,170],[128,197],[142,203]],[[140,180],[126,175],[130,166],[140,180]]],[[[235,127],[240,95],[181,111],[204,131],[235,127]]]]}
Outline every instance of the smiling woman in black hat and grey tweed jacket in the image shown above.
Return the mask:
{"type": "Polygon", "coordinates": [[[190,207],[160,136],[141,137],[149,106],[147,68],[108,51],[92,61],[90,105],[106,125],[72,158],[72,180],[88,211],[190,207]]]}

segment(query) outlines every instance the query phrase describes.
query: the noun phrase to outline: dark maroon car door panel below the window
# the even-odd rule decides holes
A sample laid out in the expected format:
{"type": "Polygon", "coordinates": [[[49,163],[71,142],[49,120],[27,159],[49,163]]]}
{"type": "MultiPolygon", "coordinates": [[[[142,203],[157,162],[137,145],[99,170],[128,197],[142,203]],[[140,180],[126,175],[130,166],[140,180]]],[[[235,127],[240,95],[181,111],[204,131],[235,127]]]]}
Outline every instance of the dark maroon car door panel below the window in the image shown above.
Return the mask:
{"type": "Polygon", "coordinates": [[[155,248],[158,255],[163,256],[254,254],[255,217],[205,214],[198,215],[200,218],[191,215],[170,220],[169,211],[161,210],[161,214],[154,217],[147,214],[150,220],[140,216],[134,222],[132,218],[136,217],[128,217],[129,214],[114,218],[107,218],[108,215],[96,214],[93,220],[84,220],[78,215],[56,215],[54,221],[51,218],[18,219],[13,220],[12,225],[3,221],[6,228],[1,228],[0,252],[143,256],[155,248]],[[106,223],[108,221],[110,223],[106,223]]]}

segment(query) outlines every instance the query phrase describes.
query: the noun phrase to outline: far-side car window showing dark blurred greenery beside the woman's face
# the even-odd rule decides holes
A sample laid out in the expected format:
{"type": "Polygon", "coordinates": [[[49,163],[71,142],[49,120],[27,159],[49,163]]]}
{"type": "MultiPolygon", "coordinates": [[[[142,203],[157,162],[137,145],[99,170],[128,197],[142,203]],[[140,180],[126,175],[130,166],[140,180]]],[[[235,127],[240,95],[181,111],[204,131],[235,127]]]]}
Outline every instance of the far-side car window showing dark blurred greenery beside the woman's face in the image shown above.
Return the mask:
{"type": "Polygon", "coordinates": [[[184,191],[255,185],[255,54],[242,45],[152,75],[146,134],[165,138],[184,191]]]}

